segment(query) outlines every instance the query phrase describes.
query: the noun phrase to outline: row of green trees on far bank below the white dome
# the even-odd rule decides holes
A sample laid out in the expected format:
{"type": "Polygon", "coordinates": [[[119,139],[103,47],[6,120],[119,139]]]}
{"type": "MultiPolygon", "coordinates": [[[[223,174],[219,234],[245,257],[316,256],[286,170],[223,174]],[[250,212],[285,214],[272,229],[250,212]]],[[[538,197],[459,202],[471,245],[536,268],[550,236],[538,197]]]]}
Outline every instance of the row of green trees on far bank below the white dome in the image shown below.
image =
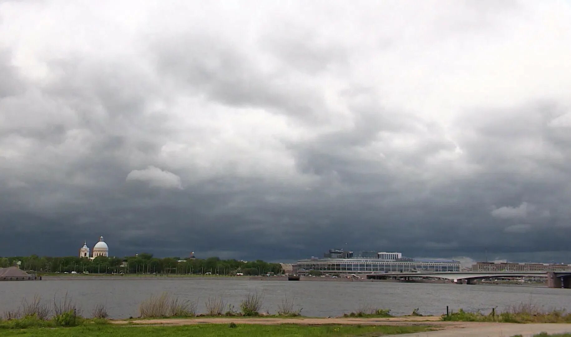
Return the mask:
{"type": "Polygon", "coordinates": [[[211,274],[264,275],[282,273],[279,263],[268,263],[262,260],[240,261],[207,259],[154,258],[152,254],[138,254],[126,258],[107,258],[98,256],[95,259],[77,258],[74,256],[48,257],[37,255],[12,256],[0,258],[0,267],[19,266],[22,270],[42,272],[89,272],[100,274],[211,274]]]}

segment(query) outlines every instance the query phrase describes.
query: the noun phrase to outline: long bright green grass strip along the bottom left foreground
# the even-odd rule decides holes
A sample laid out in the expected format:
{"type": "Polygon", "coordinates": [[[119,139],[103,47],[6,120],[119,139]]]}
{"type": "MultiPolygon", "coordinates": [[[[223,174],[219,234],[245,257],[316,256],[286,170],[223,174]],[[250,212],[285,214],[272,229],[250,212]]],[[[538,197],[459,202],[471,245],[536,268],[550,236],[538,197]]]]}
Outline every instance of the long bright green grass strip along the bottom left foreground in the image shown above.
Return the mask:
{"type": "Polygon", "coordinates": [[[115,326],[97,325],[72,328],[35,328],[22,330],[3,330],[2,336],[45,336],[45,337],[72,337],[72,336],[118,336],[118,337],[146,337],[146,336],[229,336],[229,337],[265,337],[265,336],[383,336],[392,334],[408,334],[413,332],[430,331],[428,326],[300,326],[296,324],[261,325],[239,324],[235,327],[230,324],[197,324],[193,326],[115,326]]]}

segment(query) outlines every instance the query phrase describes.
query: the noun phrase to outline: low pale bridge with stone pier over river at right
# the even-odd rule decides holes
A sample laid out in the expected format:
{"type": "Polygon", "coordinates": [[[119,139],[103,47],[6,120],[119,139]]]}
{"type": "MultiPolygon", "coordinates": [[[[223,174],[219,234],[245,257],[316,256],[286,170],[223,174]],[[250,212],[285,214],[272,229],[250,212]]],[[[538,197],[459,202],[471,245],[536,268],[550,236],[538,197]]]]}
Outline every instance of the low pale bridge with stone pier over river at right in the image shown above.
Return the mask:
{"type": "Polygon", "coordinates": [[[433,272],[385,272],[369,274],[367,279],[387,278],[439,278],[463,284],[474,284],[474,280],[485,278],[510,278],[523,276],[543,276],[550,288],[571,288],[571,271],[433,271],[433,272]]]}

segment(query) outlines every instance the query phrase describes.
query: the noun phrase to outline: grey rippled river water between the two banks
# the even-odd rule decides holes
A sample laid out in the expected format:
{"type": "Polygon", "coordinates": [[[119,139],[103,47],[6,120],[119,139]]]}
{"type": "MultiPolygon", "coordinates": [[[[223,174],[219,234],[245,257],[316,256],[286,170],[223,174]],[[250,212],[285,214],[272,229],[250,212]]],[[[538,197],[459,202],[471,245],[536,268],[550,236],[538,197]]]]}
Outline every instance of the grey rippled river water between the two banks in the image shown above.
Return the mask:
{"type": "Polygon", "coordinates": [[[138,306],[152,294],[163,291],[180,299],[194,300],[204,312],[209,297],[222,299],[239,307],[244,296],[263,295],[264,311],[275,313],[287,296],[304,316],[339,316],[359,308],[388,308],[395,315],[411,314],[415,308],[424,315],[441,315],[451,310],[504,310],[513,304],[533,303],[546,310],[565,308],[571,311],[571,289],[546,287],[491,286],[468,284],[427,284],[390,282],[292,282],[216,279],[77,279],[0,282],[0,315],[17,308],[22,299],[35,294],[53,303],[54,296],[66,292],[84,316],[102,303],[112,318],[138,316],[138,306]]]}

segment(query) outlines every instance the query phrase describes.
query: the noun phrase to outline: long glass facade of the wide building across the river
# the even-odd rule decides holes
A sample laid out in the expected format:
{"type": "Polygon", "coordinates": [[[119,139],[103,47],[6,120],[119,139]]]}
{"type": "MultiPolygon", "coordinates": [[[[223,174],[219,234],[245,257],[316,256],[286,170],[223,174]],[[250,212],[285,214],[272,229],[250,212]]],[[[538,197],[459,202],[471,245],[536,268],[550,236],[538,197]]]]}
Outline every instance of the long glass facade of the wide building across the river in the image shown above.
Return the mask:
{"type": "Polygon", "coordinates": [[[317,270],[325,274],[379,274],[382,272],[460,271],[459,261],[417,261],[379,259],[299,260],[297,274],[317,270]]]}

